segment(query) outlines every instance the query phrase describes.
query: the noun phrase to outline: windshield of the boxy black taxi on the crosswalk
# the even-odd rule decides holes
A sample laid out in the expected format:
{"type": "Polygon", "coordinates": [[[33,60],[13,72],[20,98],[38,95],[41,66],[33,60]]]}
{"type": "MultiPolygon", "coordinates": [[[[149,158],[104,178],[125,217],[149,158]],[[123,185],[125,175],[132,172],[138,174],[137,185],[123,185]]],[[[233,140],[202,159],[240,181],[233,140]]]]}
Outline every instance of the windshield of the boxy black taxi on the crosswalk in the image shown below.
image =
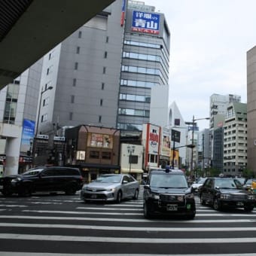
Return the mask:
{"type": "Polygon", "coordinates": [[[152,174],[151,187],[186,188],[187,180],[184,175],[152,174]]]}

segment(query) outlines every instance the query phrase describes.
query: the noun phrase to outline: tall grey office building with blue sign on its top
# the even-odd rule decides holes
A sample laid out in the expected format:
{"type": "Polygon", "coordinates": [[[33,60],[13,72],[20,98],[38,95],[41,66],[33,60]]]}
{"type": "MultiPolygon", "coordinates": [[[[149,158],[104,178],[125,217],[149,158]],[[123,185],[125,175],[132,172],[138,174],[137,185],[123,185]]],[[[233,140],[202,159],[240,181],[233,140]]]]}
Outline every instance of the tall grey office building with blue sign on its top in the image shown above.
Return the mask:
{"type": "Polygon", "coordinates": [[[170,34],[163,14],[118,0],[44,56],[38,133],[81,123],[141,131],[151,87],[168,84],[170,34]]]}

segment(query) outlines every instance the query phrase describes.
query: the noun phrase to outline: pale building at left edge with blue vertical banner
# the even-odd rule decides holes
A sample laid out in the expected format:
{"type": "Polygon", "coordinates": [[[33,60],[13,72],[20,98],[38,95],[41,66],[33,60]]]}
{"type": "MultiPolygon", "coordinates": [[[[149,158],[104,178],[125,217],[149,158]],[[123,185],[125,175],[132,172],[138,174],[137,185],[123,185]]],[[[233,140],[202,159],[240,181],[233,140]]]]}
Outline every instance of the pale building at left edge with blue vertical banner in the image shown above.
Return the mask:
{"type": "Polygon", "coordinates": [[[32,165],[42,60],[0,91],[0,160],[5,175],[24,172],[32,165]]]}

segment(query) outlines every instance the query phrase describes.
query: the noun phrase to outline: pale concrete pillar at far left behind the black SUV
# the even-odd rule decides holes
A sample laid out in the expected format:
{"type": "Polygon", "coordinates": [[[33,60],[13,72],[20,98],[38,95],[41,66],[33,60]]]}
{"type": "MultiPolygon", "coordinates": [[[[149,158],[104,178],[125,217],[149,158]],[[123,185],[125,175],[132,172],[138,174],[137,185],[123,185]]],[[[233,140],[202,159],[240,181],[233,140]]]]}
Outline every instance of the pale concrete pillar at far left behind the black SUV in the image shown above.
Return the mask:
{"type": "Polygon", "coordinates": [[[18,173],[20,158],[20,139],[7,138],[5,146],[5,176],[18,173]]]}

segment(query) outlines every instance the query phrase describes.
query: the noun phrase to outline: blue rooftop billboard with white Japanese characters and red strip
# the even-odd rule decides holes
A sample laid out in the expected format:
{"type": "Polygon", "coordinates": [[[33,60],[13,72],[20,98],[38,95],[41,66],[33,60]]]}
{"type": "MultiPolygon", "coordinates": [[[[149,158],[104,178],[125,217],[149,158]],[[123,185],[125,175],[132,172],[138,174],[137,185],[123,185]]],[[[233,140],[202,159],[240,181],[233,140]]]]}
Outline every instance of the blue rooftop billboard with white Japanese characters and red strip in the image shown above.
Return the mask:
{"type": "Polygon", "coordinates": [[[160,14],[133,11],[132,31],[158,35],[160,14]]]}

